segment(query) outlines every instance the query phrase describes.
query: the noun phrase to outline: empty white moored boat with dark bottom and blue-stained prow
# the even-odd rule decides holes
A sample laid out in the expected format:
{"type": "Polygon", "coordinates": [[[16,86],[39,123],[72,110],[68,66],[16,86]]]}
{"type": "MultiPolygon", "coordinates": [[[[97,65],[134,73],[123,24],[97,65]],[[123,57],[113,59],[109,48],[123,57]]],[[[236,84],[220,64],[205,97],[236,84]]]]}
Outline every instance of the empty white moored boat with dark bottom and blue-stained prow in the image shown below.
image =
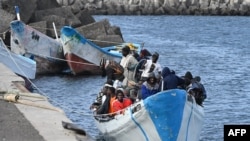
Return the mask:
{"type": "Polygon", "coordinates": [[[11,50],[34,57],[37,74],[58,73],[63,69],[62,44],[38,30],[15,20],[10,23],[11,50]]]}

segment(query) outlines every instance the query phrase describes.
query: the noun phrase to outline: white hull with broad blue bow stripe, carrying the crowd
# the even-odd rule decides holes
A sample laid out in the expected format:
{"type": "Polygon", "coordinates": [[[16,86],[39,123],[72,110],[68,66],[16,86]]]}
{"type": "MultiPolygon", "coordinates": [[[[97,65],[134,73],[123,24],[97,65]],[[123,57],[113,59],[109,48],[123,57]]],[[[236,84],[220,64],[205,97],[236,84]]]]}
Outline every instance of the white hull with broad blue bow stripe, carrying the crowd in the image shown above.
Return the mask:
{"type": "Polygon", "coordinates": [[[105,140],[199,141],[204,111],[185,90],[173,89],[94,119],[105,140]]]}

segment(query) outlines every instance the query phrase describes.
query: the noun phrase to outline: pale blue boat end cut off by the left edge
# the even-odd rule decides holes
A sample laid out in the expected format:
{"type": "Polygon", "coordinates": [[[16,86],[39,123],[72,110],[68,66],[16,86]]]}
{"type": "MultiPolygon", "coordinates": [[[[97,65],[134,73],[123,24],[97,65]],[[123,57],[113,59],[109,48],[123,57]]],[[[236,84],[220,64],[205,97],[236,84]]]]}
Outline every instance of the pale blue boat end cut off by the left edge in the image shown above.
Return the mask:
{"type": "Polygon", "coordinates": [[[0,62],[14,73],[28,79],[35,79],[36,62],[20,54],[11,52],[0,38],[0,62]]]}

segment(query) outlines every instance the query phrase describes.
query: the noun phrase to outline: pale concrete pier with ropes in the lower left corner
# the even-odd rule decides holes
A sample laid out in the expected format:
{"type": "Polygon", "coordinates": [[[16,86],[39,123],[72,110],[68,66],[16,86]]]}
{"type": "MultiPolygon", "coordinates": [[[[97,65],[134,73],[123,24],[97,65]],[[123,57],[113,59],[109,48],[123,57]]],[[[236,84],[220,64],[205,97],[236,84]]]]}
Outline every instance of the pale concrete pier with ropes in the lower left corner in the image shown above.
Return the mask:
{"type": "Polygon", "coordinates": [[[2,63],[0,70],[0,140],[93,141],[88,135],[65,129],[62,121],[72,121],[46,97],[30,93],[22,77],[2,63]],[[18,100],[6,100],[6,94],[18,95],[18,100]]]}

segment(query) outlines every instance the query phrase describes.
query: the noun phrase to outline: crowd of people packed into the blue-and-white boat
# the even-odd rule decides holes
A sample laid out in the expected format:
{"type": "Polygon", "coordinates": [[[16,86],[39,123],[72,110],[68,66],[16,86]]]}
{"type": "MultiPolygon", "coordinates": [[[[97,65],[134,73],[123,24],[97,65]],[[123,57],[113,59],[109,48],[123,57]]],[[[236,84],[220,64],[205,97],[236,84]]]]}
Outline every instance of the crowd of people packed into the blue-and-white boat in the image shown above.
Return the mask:
{"type": "Polygon", "coordinates": [[[137,54],[133,49],[123,47],[120,62],[101,61],[100,67],[107,81],[91,106],[97,114],[114,115],[136,101],[160,91],[177,88],[185,89],[202,106],[207,94],[199,76],[193,77],[187,71],[180,77],[170,68],[162,68],[157,52],[151,55],[143,49],[137,54]]]}

